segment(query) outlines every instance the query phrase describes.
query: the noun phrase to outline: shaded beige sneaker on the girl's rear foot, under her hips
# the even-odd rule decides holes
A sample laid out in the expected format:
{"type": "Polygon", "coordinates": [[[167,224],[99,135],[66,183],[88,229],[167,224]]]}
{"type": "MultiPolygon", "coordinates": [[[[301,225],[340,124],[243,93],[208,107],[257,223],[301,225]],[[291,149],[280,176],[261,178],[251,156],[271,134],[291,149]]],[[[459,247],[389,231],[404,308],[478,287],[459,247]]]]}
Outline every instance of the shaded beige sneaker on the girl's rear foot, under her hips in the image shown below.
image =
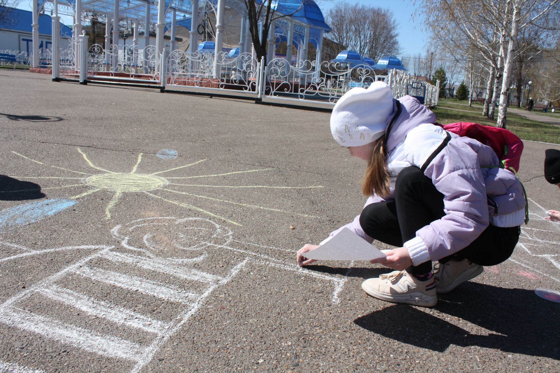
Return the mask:
{"type": "Polygon", "coordinates": [[[440,263],[440,269],[435,273],[437,292],[440,294],[450,292],[459,284],[477,277],[483,271],[483,266],[474,264],[469,259],[440,263]]]}

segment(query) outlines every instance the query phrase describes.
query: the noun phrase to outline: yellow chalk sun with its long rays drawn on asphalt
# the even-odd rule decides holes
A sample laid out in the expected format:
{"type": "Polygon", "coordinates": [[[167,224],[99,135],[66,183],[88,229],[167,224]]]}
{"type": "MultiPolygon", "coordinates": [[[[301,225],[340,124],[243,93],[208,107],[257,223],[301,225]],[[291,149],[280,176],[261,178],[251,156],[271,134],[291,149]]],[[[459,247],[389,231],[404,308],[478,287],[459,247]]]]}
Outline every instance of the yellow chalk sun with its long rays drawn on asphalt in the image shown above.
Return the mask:
{"type": "MultiPolygon", "coordinates": [[[[145,195],[151,196],[154,199],[165,201],[169,204],[178,205],[184,207],[185,209],[198,211],[203,215],[209,216],[211,218],[221,219],[223,221],[227,221],[227,223],[241,226],[241,224],[237,223],[236,221],[230,220],[225,218],[224,216],[218,215],[213,213],[212,211],[208,211],[202,209],[195,205],[196,202],[193,200],[211,200],[214,202],[220,202],[221,204],[232,204],[237,206],[248,207],[250,209],[260,209],[260,210],[267,210],[267,211],[275,211],[278,213],[287,213],[287,214],[295,214],[300,216],[305,216],[307,218],[315,218],[315,216],[294,213],[292,211],[284,211],[281,209],[274,209],[272,207],[266,206],[259,206],[259,205],[251,205],[245,204],[236,201],[230,201],[225,199],[218,199],[215,197],[204,196],[200,194],[199,190],[203,190],[206,188],[238,188],[242,190],[243,188],[270,188],[270,189],[309,189],[309,188],[322,188],[323,186],[304,186],[304,187],[292,187],[292,186],[269,186],[269,185],[209,185],[209,184],[191,184],[191,183],[184,183],[188,179],[197,179],[197,178],[214,178],[220,176],[230,176],[234,174],[243,174],[243,173],[253,173],[253,172],[265,172],[274,170],[274,168],[260,168],[260,169],[248,169],[248,170],[241,170],[241,171],[233,171],[233,172],[226,172],[226,173],[216,173],[216,174],[198,174],[192,176],[184,176],[184,177],[164,177],[162,174],[175,171],[178,169],[185,169],[188,167],[193,167],[197,164],[205,162],[206,159],[200,159],[196,162],[185,164],[183,166],[174,167],[170,169],[166,169],[164,171],[153,172],[150,174],[146,173],[139,173],[138,167],[142,162],[143,153],[139,153],[136,159],[136,163],[132,167],[132,171],[130,172],[115,172],[110,171],[109,169],[97,166],[94,164],[87,156],[86,153],[82,152],[80,148],[76,148],[78,153],[82,155],[83,160],[87,163],[88,167],[95,169],[95,173],[87,173],[76,171],[69,168],[53,166],[51,164],[46,164],[44,162],[40,162],[39,160],[32,159],[26,157],[23,154],[12,152],[13,154],[17,155],[18,157],[25,158],[30,162],[34,162],[37,164],[41,164],[44,167],[53,167],[57,169],[61,169],[66,172],[78,173],[81,174],[81,177],[49,177],[49,176],[12,176],[19,179],[63,179],[63,180],[79,180],[79,183],[73,181],[71,185],[53,187],[57,189],[62,188],[71,188],[71,187],[89,187],[88,190],[85,192],[79,193],[75,196],[69,197],[69,200],[78,200],[91,195],[92,193],[96,192],[110,192],[112,197],[108,204],[105,206],[105,219],[111,219],[111,210],[119,204],[119,201],[123,198],[126,193],[144,193],[145,195]],[[177,188],[187,190],[194,189],[197,192],[185,192],[176,190],[177,188]],[[167,199],[157,193],[160,191],[171,192],[174,195],[177,195],[179,200],[175,199],[167,199]],[[189,202],[184,202],[183,200],[187,199],[189,202]]],[[[49,188],[42,188],[42,190],[46,190],[49,188]]]]}

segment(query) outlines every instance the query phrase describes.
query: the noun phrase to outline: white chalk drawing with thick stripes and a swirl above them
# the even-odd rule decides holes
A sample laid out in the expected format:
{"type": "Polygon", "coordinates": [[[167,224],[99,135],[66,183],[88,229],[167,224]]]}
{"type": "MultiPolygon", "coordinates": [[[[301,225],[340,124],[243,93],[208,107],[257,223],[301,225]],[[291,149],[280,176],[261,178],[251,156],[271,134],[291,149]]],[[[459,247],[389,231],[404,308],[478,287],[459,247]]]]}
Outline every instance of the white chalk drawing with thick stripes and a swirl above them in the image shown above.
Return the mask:
{"type": "MultiPolygon", "coordinates": [[[[152,360],[214,290],[241,271],[269,266],[278,272],[310,277],[332,289],[333,304],[340,302],[338,294],[346,282],[346,277],[298,267],[293,251],[233,240],[230,229],[208,219],[138,219],[115,226],[111,233],[120,245],[48,249],[87,249],[93,253],[0,304],[0,323],[117,358],[134,373],[152,360]],[[292,253],[290,259],[282,254],[286,251],[292,253]],[[204,266],[210,255],[227,264],[210,270],[216,268],[204,266]],[[165,316],[157,317],[137,306],[153,307],[157,301],[166,302],[165,316]],[[41,306],[34,309],[34,304],[41,306]],[[60,310],[55,306],[61,306],[60,310]],[[81,316],[72,314],[68,319],[64,313],[68,309],[81,316]],[[96,322],[92,324],[91,319],[96,322]],[[139,333],[142,341],[138,341],[139,333]]],[[[0,266],[46,252],[5,242],[0,245],[20,252],[0,259],[0,266]]]]}

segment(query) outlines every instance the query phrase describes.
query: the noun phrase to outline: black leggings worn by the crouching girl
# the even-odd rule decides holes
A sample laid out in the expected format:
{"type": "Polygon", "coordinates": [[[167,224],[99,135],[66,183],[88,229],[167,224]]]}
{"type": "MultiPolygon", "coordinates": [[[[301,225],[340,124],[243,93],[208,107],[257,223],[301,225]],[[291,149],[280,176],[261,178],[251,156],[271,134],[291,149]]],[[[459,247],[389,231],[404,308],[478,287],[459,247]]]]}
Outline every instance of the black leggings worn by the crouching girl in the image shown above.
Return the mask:
{"type": "MultiPolygon", "coordinates": [[[[402,247],[416,237],[416,231],[445,215],[444,195],[418,167],[404,168],[396,178],[395,199],[367,205],[360,215],[360,225],[370,237],[402,247]]],[[[481,266],[494,266],[505,261],[514,251],[520,227],[500,228],[490,224],[470,245],[455,254],[481,266]]],[[[451,257],[441,258],[440,262],[451,257]]],[[[432,270],[427,261],[409,268],[414,275],[432,270]]]]}

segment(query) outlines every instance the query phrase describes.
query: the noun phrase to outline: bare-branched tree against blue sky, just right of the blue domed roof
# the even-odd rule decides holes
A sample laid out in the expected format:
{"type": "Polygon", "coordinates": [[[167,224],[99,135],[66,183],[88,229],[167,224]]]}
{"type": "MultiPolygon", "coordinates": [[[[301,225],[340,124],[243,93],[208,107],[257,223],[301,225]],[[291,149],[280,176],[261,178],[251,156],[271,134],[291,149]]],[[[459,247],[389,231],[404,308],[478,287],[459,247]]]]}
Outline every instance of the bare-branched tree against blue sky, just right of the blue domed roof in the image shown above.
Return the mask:
{"type": "Polygon", "coordinates": [[[377,60],[400,51],[398,23],[389,9],[339,2],[326,13],[329,39],[377,60]]]}

